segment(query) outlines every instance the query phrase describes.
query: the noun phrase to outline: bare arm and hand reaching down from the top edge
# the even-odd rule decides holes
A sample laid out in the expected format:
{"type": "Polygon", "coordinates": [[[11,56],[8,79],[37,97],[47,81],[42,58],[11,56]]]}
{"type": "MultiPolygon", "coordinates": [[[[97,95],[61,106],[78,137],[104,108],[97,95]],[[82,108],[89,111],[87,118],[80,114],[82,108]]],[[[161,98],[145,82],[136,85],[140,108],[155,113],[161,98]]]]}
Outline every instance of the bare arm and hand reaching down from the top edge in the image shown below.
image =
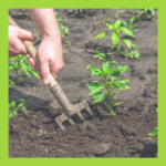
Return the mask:
{"type": "MultiPolygon", "coordinates": [[[[42,42],[38,48],[38,59],[41,66],[40,75],[43,83],[49,84],[50,73],[58,74],[64,68],[59,24],[53,9],[29,9],[29,12],[42,34],[42,42]]],[[[37,69],[34,60],[30,55],[28,58],[32,66],[37,69]]]]}

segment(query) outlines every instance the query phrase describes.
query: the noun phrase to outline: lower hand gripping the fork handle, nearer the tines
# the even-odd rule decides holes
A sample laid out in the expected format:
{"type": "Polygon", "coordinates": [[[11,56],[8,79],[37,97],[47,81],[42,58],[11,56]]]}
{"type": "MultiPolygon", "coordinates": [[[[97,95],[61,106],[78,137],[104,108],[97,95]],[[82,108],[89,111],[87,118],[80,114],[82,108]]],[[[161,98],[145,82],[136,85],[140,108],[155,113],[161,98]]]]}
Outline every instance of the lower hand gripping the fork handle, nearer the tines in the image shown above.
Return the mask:
{"type": "Polygon", "coordinates": [[[50,83],[50,73],[54,76],[64,68],[61,39],[42,39],[37,52],[40,62],[40,70],[31,55],[27,54],[27,56],[29,58],[31,65],[40,74],[45,85],[50,83]]]}

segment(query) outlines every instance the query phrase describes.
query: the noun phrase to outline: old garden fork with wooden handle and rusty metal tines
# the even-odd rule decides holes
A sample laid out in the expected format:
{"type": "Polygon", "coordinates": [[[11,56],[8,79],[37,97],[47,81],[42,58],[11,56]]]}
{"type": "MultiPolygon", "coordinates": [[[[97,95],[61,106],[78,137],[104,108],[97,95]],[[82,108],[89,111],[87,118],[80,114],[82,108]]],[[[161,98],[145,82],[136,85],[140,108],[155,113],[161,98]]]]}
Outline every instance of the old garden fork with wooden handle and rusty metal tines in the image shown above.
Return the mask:
{"type": "MultiPolygon", "coordinates": [[[[13,20],[12,18],[9,15],[9,24],[20,28],[13,20]]],[[[40,69],[40,63],[37,56],[37,49],[34,48],[34,45],[27,40],[23,40],[23,44],[25,45],[25,49],[28,51],[28,53],[31,54],[31,56],[35,60],[35,63],[38,65],[38,68],[40,69]]],[[[60,126],[60,128],[62,131],[64,131],[64,126],[63,126],[63,122],[64,121],[69,121],[71,125],[75,125],[73,120],[71,118],[72,115],[77,114],[77,116],[84,121],[83,115],[81,114],[81,111],[86,108],[87,112],[90,113],[91,117],[94,116],[93,112],[91,111],[87,102],[85,100],[83,100],[82,102],[80,102],[79,104],[71,104],[70,101],[68,100],[66,95],[64,94],[63,90],[61,89],[61,86],[58,84],[58,82],[55,81],[55,79],[58,77],[58,75],[52,75],[50,73],[50,89],[51,92],[53,93],[53,95],[55,96],[55,98],[59,101],[59,103],[61,104],[61,106],[64,110],[64,113],[62,113],[60,116],[58,116],[55,118],[55,122],[58,123],[58,125],[60,126]]]]}

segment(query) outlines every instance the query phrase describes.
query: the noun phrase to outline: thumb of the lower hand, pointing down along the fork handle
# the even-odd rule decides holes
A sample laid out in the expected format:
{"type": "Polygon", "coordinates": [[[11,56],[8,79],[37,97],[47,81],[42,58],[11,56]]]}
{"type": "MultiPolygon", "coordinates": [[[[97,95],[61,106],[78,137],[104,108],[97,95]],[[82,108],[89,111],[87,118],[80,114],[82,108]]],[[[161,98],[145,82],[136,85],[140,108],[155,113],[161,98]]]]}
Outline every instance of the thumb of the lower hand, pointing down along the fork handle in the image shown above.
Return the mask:
{"type": "Polygon", "coordinates": [[[50,83],[50,68],[49,68],[49,63],[41,62],[40,63],[40,69],[41,69],[41,79],[43,80],[43,83],[45,85],[48,85],[50,83]]]}

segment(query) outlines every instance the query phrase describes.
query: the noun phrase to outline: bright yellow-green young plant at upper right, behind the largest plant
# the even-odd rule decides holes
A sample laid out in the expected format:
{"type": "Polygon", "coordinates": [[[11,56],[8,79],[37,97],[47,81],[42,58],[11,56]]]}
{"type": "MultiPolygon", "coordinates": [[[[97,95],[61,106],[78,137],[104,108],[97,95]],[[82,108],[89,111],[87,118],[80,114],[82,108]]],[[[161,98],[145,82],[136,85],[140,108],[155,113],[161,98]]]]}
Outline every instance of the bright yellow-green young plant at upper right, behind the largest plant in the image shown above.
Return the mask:
{"type": "MultiPolygon", "coordinates": [[[[114,32],[111,35],[111,39],[112,39],[113,46],[116,45],[116,51],[118,51],[117,50],[117,44],[118,44],[120,41],[123,41],[128,46],[128,49],[131,49],[131,45],[132,45],[131,40],[121,39],[121,37],[120,37],[121,33],[120,32],[125,33],[129,37],[134,37],[133,31],[128,30],[125,27],[121,27],[121,20],[117,20],[115,23],[112,22],[111,24],[105,23],[104,27],[107,27],[107,29],[113,29],[114,30],[114,32]]],[[[108,35],[108,34],[105,33],[105,32],[101,32],[95,38],[96,39],[97,38],[103,39],[106,35],[108,35]]]]}

